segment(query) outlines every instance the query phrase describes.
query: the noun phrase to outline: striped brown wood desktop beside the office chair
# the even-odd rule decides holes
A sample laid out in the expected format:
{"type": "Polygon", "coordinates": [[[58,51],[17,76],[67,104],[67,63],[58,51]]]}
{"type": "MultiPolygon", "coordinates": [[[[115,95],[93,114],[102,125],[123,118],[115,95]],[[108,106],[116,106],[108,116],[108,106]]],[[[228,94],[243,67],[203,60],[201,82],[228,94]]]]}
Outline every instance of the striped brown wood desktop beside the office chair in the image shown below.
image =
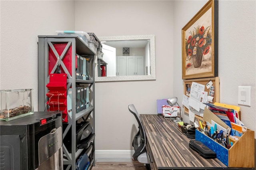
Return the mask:
{"type": "Polygon", "coordinates": [[[188,144],[192,140],[181,132],[176,123],[162,115],[140,115],[146,131],[146,149],[152,162],[152,170],[180,169],[250,169],[228,168],[217,158],[204,159],[188,144]]]}

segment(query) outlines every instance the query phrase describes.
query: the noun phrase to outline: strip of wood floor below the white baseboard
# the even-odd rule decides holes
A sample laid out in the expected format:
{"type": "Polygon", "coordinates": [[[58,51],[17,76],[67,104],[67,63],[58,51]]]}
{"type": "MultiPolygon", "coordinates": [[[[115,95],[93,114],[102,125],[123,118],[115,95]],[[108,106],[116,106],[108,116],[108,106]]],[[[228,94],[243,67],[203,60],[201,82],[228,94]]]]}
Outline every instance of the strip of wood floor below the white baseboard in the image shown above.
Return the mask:
{"type": "Polygon", "coordinates": [[[92,170],[146,170],[144,164],[137,162],[96,162],[92,170]]]}

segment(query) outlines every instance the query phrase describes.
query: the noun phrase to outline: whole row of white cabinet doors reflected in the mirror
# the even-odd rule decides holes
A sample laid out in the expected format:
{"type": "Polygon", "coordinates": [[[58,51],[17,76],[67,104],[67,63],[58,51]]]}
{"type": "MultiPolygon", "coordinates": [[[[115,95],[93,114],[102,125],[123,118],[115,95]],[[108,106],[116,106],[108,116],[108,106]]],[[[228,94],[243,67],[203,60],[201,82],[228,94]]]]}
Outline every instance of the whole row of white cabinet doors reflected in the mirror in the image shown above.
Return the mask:
{"type": "Polygon", "coordinates": [[[143,56],[117,56],[116,75],[144,75],[143,56]]]}

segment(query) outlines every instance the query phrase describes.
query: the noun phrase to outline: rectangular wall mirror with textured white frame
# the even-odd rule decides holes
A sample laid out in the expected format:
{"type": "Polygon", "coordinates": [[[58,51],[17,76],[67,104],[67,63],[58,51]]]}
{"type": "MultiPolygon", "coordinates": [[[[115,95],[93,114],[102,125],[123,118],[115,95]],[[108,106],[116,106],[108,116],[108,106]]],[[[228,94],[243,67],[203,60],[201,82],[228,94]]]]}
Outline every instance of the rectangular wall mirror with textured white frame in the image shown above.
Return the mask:
{"type": "Polygon", "coordinates": [[[102,36],[95,81],[155,80],[155,36],[102,36]]]}

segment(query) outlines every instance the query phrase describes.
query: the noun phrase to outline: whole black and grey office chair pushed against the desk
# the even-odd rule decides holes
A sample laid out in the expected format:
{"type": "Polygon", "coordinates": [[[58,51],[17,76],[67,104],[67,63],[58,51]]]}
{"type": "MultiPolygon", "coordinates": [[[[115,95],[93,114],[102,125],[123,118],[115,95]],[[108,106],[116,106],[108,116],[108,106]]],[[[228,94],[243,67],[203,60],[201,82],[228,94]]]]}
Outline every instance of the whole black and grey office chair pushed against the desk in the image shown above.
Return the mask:
{"type": "Polygon", "coordinates": [[[140,121],[139,114],[134,105],[129,105],[128,109],[135,116],[139,124],[139,130],[132,141],[132,146],[134,147],[135,151],[134,154],[132,155],[132,160],[146,164],[146,168],[148,169],[150,168],[150,165],[148,161],[148,154],[146,151],[146,133],[140,121]]]}

